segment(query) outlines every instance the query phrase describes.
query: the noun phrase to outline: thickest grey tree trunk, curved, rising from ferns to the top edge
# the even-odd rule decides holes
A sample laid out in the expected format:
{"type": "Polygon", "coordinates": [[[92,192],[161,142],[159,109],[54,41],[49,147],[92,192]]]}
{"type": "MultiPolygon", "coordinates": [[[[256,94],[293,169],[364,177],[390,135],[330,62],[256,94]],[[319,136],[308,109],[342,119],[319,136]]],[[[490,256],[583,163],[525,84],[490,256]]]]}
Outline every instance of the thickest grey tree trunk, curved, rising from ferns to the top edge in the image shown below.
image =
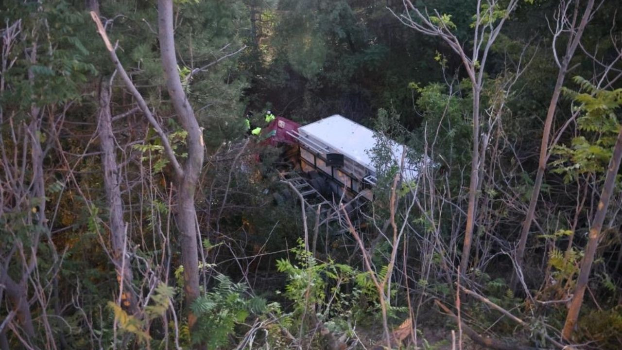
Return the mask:
{"type": "MultiPolygon", "coordinates": [[[[177,176],[177,225],[181,234],[184,291],[188,305],[199,296],[198,230],[196,225],[195,191],[203,166],[203,131],[190,102],[183,92],[177,72],[175,39],[173,30],[173,1],[158,0],[158,34],[160,56],[170,99],[177,113],[177,120],[187,131],[188,158],[183,165],[183,174],[177,176]]],[[[188,315],[188,326],[192,329],[196,317],[188,315]]]]}

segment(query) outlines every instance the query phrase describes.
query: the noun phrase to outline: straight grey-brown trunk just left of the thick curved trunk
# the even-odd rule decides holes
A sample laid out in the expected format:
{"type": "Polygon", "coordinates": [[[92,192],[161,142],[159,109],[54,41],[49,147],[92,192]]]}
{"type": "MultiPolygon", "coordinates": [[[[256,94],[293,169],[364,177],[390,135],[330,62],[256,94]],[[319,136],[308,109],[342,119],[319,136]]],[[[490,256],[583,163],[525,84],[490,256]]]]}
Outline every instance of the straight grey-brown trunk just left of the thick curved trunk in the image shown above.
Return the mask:
{"type": "Polygon", "coordinates": [[[99,125],[101,163],[104,170],[104,191],[108,201],[110,241],[112,243],[112,258],[116,270],[117,281],[121,283],[121,305],[131,314],[136,314],[137,296],[132,289],[132,269],[130,261],[126,258],[128,237],[126,224],[123,220],[123,201],[119,187],[119,166],[116,161],[115,142],[112,128],[112,115],[110,112],[110,83],[102,79],[100,83],[99,99],[99,125]]]}

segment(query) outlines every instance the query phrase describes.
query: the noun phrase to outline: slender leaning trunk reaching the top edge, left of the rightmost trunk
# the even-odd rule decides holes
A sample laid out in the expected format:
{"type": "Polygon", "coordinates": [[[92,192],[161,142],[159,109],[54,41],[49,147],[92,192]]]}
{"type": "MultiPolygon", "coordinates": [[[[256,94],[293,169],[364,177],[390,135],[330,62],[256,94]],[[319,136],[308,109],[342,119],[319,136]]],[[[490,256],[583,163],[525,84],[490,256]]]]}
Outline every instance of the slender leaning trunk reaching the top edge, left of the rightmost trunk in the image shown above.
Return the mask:
{"type": "MultiPolygon", "coordinates": [[[[553,118],[555,117],[555,110],[557,109],[557,102],[559,101],[562,86],[564,85],[564,79],[566,77],[566,73],[568,72],[570,59],[572,59],[573,55],[575,54],[575,50],[577,49],[577,46],[581,40],[581,36],[583,35],[583,31],[587,26],[587,22],[592,16],[593,6],[594,0],[589,0],[587,6],[585,7],[585,12],[583,12],[583,16],[581,17],[581,22],[577,28],[577,31],[573,33],[573,35],[571,35],[569,44],[566,47],[564,58],[562,59],[562,62],[560,62],[559,73],[557,74],[557,82],[555,82],[555,88],[553,90],[553,95],[549,103],[549,110],[547,110],[546,120],[544,121],[544,131],[542,131],[542,142],[540,144],[540,159],[538,161],[538,171],[536,173],[536,179],[534,181],[534,189],[531,193],[531,199],[529,199],[529,208],[527,209],[525,220],[522,222],[521,237],[518,243],[518,250],[516,251],[517,268],[522,267],[522,260],[525,255],[525,247],[527,245],[529,229],[531,228],[531,223],[534,220],[536,204],[538,202],[538,198],[540,197],[540,189],[542,187],[542,178],[544,177],[544,171],[546,170],[546,163],[549,160],[549,157],[547,155],[549,151],[549,136],[550,129],[553,125],[553,118]]],[[[560,13],[559,15],[565,16],[565,13],[560,13]]],[[[570,29],[574,29],[574,27],[575,21],[572,21],[570,29]]],[[[513,281],[511,283],[513,289],[516,289],[516,283],[518,283],[518,275],[515,273],[513,281]]]]}

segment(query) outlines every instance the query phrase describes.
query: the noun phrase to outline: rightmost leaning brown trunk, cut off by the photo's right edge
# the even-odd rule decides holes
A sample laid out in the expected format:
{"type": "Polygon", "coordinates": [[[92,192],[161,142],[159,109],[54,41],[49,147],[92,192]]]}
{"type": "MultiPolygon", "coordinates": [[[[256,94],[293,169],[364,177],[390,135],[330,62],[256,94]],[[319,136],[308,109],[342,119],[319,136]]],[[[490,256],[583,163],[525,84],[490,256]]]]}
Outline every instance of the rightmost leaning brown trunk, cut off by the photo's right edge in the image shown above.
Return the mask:
{"type": "Polygon", "coordinates": [[[600,240],[600,232],[603,228],[603,222],[605,222],[607,207],[609,206],[609,199],[611,197],[611,192],[613,192],[618,169],[620,169],[621,159],[622,127],[620,127],[618,139],[616,140],[616,144],[613,148],[613,155],[611,156],[609,168],[607,169],[605,184],[603,185],[603,191],[600,194],[600,202],[598,202],[598,209],[596,210],[596,214],[594,214],[587,248],[585,249],[585,255],[583,256],[583,260],[581,262],[581,270],[579,271],[577,287],[575,288],[575,293],[573,294],[572,301],[570,303],[570,309],[568,310],[568,315],[566,316],[564,330],[562,331],[562,336],[565,339],[570,339],[570,336],[572,336],[572,331],[577,324],[579,311],[581,310],[581,305],[583,304],[583,294],[585,294],[585,288],[587,288],[587,283],[590,278],[590,270],[592,270],[592,263],[594,262],[596,247],[598,247],[598,241],[600,240]]]}

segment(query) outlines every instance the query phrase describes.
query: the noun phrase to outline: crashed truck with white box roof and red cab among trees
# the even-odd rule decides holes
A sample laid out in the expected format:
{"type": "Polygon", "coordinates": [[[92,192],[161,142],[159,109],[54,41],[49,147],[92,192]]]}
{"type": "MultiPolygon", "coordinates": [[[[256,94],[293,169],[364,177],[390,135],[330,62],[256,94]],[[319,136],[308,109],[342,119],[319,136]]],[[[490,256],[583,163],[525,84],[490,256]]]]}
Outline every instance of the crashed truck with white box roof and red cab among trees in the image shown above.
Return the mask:
{"type": "MultiPolygon", "coordinates": [[[[373,201],[376,167],[372,151],[378,143],[373,130],[341,115],[304,126],[277,117],[264,130],[263,137],[264,143],[287,145],[287,154],[293,155],[294,171],[284,173],[283,178],[295,182],[301,194],[320,194],[333,207],[341,202],[350,210],[373,201]]],[[[394,161],[400,164],[405,146],[390,140],[388,144],[394,161]]],[[[414,167],[406,161],[402,181],[415,176],[414,167]]]]}

